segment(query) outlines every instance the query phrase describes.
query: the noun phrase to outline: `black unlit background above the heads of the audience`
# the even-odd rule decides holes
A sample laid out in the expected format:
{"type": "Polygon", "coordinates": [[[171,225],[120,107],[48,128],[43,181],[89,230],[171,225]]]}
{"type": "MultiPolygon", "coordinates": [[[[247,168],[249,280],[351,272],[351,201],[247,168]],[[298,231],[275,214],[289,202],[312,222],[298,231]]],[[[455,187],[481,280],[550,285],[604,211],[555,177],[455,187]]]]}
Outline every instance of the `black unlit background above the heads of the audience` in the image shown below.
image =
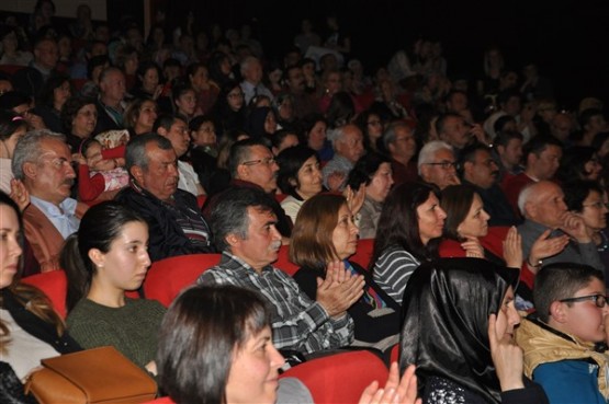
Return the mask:
{"type": "Polygon", "coordinates": [[[173,1],[166,10],[169,21],[180,22],[192,10],[203,25],[224,28],[253,21],[268,57],[292,44],[301,19],[311,18],[322,33],[324,16],[335,14],[352,36],[352,56],[370,69],[399,48],[411,51],[425,36],[441,41],[449,77],[474,76],[484,49],[497,44],[514,68],[535,61],[563,107],[574,108],[584,96],[609,101],[608,1],[225,0],[173,1]]]}

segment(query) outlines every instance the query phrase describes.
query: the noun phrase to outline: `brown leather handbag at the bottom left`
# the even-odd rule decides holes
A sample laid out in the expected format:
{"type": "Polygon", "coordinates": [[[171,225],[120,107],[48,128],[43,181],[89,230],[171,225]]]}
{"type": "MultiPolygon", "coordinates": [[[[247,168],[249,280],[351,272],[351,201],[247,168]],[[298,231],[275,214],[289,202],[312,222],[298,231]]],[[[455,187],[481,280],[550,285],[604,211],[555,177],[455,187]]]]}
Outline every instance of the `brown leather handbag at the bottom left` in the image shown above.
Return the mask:
{"type": "Polygon", "coordinates": [[[112,346],[43,359],[25,392],[41,404],[144,403],[154,400],[157,383],[112,346]]]}

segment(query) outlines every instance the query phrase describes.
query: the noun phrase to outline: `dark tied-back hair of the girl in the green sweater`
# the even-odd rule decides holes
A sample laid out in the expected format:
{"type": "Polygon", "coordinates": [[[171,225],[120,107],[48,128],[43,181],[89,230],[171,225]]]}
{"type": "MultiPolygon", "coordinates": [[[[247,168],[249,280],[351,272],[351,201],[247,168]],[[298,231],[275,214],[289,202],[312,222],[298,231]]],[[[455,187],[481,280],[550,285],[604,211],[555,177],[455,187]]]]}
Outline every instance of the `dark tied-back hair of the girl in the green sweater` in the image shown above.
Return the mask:
{"type": "Polygon", "coordinates": [[[60,263],[68,277],[68,311],[87,296],[91,287],[97,268],[89,257],[89,251],[97,249],[108,253],[124,226],[134,221],[145,223],[138,213],[115,200],[102,201],[87,210],[78,232],[66,239],[61,250],[60,263]]]}

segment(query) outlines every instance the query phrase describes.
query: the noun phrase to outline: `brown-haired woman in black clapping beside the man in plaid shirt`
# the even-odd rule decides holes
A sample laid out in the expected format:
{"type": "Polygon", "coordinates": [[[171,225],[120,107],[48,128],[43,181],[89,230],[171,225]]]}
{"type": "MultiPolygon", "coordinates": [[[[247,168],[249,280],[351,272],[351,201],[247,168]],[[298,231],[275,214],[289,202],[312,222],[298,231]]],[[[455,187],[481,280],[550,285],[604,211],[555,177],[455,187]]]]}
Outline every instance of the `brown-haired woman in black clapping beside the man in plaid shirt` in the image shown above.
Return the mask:
{"type": "Polygon", "coordinates": [[[356,324],[357,346],[388,351],[397,343],[399,304],[368,270],[348,261],[358,247],[358,227],[347,199],[336,194],[318,194],[307,199],[292,230],[290,259],[301,268],[294,279],[309,298],[317,297],[317,280],[335,268],[346,268],[365,280],[364,293],[349,309],[356,324]]]}

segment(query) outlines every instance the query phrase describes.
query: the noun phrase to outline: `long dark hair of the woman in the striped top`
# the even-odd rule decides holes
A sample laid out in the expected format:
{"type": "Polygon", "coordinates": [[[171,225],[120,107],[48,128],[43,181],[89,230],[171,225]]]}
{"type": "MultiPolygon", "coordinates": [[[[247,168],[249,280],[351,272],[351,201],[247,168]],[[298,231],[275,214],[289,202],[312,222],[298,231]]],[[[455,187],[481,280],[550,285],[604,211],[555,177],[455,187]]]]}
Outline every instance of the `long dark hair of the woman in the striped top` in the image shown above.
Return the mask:
{"type": "Polygon", "coordinates": [[[393,245],[407,250],[420,262],[438,255],[436,243],[429,242],[427,246],[422,243],[417,216],[417,208],[432,194],[440,199],[437,188],[421,182],[406,182],[392,188],[379,218],[370,267],[393,245]]]}

